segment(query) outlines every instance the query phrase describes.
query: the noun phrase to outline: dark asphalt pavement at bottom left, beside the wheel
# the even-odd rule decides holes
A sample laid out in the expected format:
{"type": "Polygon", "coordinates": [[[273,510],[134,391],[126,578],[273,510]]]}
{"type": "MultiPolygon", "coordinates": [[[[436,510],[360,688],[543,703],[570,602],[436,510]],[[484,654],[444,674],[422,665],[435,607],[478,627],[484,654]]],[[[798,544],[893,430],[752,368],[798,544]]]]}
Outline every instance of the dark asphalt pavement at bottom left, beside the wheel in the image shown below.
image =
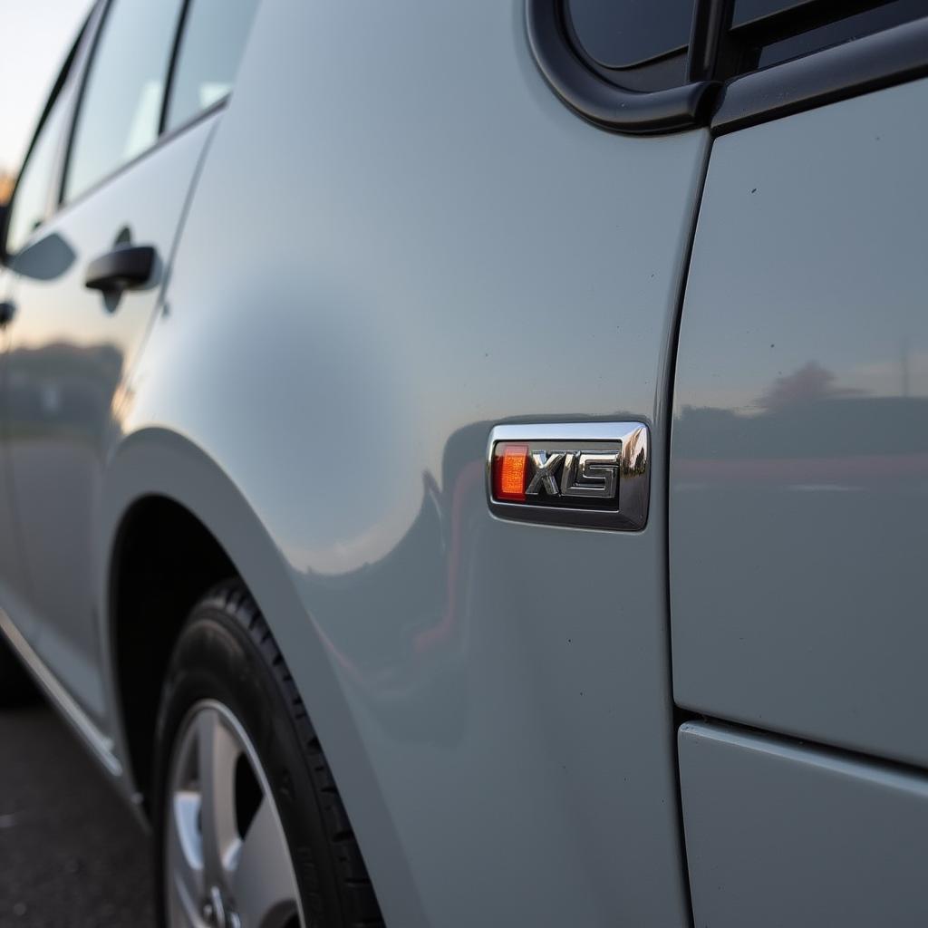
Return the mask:
{"type": "Polygon", "coordinates": [[[0,928],[151,928],[150,856],[45,702],[0,709],[0,928]]]}

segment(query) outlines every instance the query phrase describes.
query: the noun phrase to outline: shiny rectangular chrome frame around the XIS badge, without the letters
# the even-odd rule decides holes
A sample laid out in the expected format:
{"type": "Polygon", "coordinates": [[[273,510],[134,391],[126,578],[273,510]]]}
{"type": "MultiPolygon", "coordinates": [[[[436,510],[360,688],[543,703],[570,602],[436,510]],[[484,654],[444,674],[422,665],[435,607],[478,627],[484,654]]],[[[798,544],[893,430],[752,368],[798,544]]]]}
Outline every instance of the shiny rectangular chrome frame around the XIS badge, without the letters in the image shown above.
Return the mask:
{"type": "Polygon", "coordinates": [[[497,425],[486,445],[486,498],[490,511],[500,519],[516,522],[539,522],[580,528],[611,529],[614,532],[639,532],[648,523],[651,499],[651,433],[644,422],[569,422],[537,425],[497,425]],[[497,442],[528,442],[548,445],[556,450],[559,442],[583,445],[585,442],[611,442],[625,449],[643,452],[640,473],[625,469],[619,477],[619,508],[574,509],[566,506],[533,506],[531,503],[505,503],[493,498],[493,449],[497,442]]]}

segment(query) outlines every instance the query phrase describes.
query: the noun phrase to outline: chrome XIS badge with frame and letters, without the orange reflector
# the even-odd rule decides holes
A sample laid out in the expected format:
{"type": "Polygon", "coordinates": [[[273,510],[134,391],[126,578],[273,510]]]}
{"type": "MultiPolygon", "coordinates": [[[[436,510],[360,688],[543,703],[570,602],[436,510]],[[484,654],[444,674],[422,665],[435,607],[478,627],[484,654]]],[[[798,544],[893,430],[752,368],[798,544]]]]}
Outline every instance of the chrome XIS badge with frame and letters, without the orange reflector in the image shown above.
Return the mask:
{"type": "Polygon", "coordinates": [[[644,422],[497,425],[486,446],[486,496],[490,510],[501,519],[639,532],[648,523],[651,499],[648,426],[644,422]],[[493,495],[493,459],[500,442],[530,446],[531,476],[524,502],[505,502],[493,495]],[[616,481],[616,492],[611,493],[616,481]],[[584,505],[533,503],[531,497],[541,493],[582,500],[584,505]]]}

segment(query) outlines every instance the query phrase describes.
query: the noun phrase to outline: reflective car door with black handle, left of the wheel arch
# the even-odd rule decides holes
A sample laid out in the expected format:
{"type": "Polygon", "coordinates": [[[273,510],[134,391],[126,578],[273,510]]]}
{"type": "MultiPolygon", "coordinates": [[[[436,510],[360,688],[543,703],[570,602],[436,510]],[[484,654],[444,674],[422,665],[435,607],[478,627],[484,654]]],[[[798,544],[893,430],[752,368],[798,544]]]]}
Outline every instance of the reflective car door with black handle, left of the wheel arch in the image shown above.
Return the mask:
{"type": "Polygon", "coordinates": [[[99,8],[57,208],[9,261],[6,451],[32,580],[26,612],[40,625],[34,649],[99,724],[100,477],[120,430],[120,386],[153,314],[166,311],[174,238],[253,4],[225,9],[215,0],[99,8]],[[203,39],[217,23],[226,41],[207,57],[203,39]]]}

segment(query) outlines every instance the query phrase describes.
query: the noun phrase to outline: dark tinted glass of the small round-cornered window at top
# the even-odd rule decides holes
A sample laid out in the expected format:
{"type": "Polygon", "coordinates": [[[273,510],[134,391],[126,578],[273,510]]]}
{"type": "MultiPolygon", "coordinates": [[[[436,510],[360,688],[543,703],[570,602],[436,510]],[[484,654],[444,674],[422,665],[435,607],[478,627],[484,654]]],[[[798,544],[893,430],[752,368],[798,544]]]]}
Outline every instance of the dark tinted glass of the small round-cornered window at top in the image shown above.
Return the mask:
{"type": "Polygon", "coordinates": [[[586,54],[607,68],[628,68],[690,42],[693,0],[568,0],[586,54]]]}

